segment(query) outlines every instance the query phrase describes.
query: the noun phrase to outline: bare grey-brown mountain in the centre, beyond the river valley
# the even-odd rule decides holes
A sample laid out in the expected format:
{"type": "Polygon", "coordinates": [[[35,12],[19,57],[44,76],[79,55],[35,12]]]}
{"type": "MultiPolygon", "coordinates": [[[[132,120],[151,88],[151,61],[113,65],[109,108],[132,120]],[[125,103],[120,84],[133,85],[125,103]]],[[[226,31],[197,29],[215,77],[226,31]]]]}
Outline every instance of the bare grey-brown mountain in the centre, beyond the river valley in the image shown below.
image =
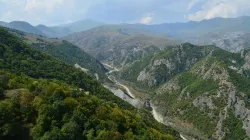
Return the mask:
{"type": "Polygon", "coordinates": [[[74,33],[62,39],[79,46],[99,61],[115,67],[124,67],[176,43],[167,37],[128,34],[127,28],[115,25],[74,33]]]}

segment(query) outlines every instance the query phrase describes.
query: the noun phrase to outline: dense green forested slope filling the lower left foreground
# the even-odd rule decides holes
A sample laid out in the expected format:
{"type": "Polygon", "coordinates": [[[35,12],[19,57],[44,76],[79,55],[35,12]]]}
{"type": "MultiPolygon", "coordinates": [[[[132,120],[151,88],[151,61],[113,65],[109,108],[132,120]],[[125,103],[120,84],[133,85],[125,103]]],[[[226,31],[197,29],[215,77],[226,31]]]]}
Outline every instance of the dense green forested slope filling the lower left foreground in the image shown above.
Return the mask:
{"type": "Polygon", "coordinates": [[[180,139],[92,76],[2,28],[0,95],[1,140],[180,139]]]}

